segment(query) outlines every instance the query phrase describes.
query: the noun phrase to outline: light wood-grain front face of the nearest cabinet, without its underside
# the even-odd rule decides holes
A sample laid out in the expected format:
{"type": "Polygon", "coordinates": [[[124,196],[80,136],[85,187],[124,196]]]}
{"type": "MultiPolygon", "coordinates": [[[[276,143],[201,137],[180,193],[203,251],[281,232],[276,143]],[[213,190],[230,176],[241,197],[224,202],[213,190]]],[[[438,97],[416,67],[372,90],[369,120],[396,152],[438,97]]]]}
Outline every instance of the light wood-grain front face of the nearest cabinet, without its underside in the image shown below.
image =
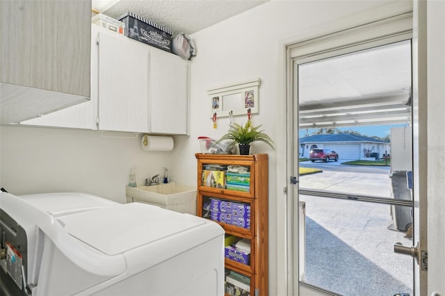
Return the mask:
{"type": "Polygon", "coordinates": [[[91,1],[0,1],[1,81],[90,97],[91,1]]]}

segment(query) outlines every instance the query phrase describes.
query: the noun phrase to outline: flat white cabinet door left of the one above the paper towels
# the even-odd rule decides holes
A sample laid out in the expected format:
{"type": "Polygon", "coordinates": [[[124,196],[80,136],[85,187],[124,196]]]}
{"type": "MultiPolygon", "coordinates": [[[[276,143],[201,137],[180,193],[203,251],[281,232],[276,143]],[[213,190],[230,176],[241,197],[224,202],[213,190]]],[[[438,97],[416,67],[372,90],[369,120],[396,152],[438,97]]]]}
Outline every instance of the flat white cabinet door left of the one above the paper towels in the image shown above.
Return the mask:
{"type": "Polygon", "coordinates": [[[148,131],[147,45],[99,33],[99,129],[148,131]]]}

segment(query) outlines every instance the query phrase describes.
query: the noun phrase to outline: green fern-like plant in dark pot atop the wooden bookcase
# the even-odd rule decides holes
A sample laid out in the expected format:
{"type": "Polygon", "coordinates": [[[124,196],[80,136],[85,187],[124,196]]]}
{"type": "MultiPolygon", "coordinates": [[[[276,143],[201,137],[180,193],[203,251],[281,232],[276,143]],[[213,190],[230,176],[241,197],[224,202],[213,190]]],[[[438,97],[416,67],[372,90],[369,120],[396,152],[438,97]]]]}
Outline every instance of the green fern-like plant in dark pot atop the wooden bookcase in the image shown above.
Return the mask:
{"type": "Polygon", "coordinates": [[[218,141],[216,141],[216,144],[223,140],[232,140],[229,145],[232,146],[238,143],[239,154],[241,155],[249,154],[250,143],[254,141],[265,142],[267,145],[272,147],[272,149],[274,149],[273,140],[266,135],[264,131],[259,130],[261,126],[262,124],[259,126],[252,126],[251,120],[248,120],[248,122],[246,122],[244,125],[232,123],[230,124],[229,131],[218,141]]]}

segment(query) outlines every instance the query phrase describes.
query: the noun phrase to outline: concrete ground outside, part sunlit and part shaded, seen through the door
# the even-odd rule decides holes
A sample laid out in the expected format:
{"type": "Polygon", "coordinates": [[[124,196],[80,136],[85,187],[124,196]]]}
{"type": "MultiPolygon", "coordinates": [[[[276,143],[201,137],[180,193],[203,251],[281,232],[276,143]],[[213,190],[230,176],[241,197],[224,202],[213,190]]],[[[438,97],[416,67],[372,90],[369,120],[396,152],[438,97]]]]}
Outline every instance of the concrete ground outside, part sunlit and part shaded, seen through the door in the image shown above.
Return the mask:
{"type": "MultiPolygon", "coordinates": [[[[300,177],[300,188],[389,197],[388,174],[322,172],[300,177]]],[[[301,195],[306,202],[305,281],[340,295],[412,295],[409,256],[394,243],[412,245],[390,230],[390,206],[301,195]]]]}

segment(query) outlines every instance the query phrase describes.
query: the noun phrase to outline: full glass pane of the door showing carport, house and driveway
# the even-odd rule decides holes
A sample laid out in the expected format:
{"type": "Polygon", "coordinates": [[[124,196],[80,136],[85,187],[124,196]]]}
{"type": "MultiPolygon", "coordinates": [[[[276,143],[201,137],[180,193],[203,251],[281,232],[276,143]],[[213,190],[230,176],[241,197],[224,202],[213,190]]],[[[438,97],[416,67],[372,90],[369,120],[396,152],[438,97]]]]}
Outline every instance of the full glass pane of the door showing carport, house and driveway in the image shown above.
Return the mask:
{"type": "Polygon", "coordinates": [[[412,295],[413,260],[394,254],[412,245],[410,41],[296,67],[300,281],[412,295]]]}

